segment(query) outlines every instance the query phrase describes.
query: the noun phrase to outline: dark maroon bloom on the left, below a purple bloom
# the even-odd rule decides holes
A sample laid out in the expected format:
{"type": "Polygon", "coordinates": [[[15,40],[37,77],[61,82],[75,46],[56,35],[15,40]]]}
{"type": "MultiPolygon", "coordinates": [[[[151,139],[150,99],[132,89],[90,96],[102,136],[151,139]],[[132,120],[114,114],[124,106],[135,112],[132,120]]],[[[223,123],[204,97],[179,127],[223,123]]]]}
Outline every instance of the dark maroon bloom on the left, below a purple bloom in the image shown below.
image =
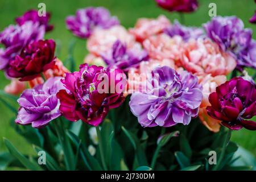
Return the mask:
{"type": "Polygon", "coordinates": [[[7,74],[10,77],[20,78],[20,81],[32,80],[55,65],[54,53],[55,42],[53,40],[33,42],[10,61],[7,74]]]}

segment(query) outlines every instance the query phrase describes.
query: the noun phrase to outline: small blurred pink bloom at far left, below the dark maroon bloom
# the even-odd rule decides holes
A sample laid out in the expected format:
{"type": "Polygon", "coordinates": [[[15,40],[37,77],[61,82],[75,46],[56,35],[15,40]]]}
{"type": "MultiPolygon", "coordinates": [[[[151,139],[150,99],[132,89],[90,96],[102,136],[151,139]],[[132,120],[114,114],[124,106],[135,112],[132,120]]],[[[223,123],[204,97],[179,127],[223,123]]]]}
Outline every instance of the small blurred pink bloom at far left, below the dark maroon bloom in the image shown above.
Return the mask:
{"type": "Polygon", "coordinates": [[[19,81],[16,78],[11,79],[11,83],[5,86],[5,92],[12,95],[19,95],[26,89],[26,82],[19,81]]]}

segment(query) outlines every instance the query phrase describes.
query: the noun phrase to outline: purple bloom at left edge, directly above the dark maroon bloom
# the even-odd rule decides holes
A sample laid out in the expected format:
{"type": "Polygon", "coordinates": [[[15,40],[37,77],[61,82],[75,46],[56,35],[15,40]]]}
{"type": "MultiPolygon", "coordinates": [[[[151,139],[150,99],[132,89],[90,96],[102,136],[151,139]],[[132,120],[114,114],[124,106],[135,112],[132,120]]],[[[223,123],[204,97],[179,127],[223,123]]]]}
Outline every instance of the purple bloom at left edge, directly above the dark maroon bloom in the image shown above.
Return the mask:
{"type": "Polygon", "coordinates": [[[10,25],[0,33],[0,43],[5,48],[0,49],[0,69],[7,69],[9,61],[31,42],[43,39],[44,27],[38,23],[26,22],[22,26],[10,25]]]}

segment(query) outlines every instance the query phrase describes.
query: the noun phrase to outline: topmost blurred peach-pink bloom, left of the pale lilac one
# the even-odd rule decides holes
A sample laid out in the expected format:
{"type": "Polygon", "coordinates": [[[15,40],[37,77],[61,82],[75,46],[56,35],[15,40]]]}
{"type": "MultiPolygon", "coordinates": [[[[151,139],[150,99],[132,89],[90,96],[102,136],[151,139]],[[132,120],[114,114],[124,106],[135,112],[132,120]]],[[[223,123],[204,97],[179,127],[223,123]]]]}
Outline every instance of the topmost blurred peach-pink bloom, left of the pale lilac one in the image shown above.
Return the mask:
{"type": "Polygon", "coordinates": [[[136,37],[137,41],[143,42],[151,35],[162,33],[170,25],[170,21],[164,15],[160,15],[156,19],[140,18],[135,27],[129,29],[129,32],[136,37]]]}

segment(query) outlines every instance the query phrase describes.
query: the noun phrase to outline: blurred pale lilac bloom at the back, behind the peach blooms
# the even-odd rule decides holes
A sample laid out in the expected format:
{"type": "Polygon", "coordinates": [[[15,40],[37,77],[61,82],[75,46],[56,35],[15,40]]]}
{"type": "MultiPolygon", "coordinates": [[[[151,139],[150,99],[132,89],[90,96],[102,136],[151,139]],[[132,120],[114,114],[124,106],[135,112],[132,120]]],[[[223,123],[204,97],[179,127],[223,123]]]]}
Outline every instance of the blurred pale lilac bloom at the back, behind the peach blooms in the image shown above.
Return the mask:
{"type": "Polygon", "coordinates": [[[164,32],[173,37],[175,35],[179,35],[183,38],[183,40],[187,41],[189,39],[197,39],[204,35],[204,30],[202,28],[197,27],[185,27],[181,25],[177,20],[175,20],[174,24],[171,24],[164,32]]]}

